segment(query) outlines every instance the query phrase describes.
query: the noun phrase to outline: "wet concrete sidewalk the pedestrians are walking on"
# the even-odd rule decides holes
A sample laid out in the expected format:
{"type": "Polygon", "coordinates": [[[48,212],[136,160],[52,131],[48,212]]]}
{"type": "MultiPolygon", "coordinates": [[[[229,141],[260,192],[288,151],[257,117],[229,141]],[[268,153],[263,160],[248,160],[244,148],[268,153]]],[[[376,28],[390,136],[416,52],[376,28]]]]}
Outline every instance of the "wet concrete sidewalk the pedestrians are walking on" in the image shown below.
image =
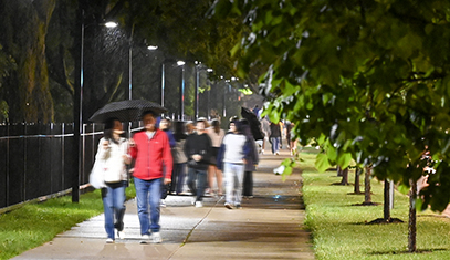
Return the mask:
{"type": "Polygon", "coordinates": [[[129,200],[124,240],[105,243],[100,215],[13,259],[314,259],[303,226],[301,176],[282,181],[272,171],[286,157],[287,150],[261,156],[253,173],[254,198],[244,199],[242,209],[227,209],[214,197],[196,208],[189,196],[168,196],[161,208],[163,243],[139,243],[136,202],[129,200]]]}

